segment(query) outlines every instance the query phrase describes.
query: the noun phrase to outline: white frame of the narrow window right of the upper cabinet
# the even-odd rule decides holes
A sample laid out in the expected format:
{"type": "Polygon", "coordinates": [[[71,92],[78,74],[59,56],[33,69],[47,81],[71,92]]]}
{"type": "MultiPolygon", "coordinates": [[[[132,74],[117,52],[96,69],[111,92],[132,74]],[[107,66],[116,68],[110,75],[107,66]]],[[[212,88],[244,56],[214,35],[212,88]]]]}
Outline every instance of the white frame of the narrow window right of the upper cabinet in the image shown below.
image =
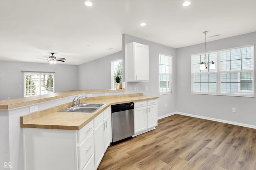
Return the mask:
{"type": "Polygon", "coordinates": [[[171,56],[171,55],[166,55],[166,54],[159,54],[158,55],[158,72],[159,72],[159,82],[158,82],[158,84],[159,84],[159,88],[158,88],[158,92],[159,92],[159,95],[164,95],[164,94],[173,94],[173,91],[172,91],[172,60],[173,60],[173,57],[171,56]],[[164,56],[164,57],[168,57],[169,58],[169,73],[161,73],[160,72],[160,62],[159,62],[159,60],[160,60],[160,57],[161,56],[164,56]],[[160,92],[160,76],[162,76],[162,75],[169,75],[169,91],[168,92],[160,92]]]}

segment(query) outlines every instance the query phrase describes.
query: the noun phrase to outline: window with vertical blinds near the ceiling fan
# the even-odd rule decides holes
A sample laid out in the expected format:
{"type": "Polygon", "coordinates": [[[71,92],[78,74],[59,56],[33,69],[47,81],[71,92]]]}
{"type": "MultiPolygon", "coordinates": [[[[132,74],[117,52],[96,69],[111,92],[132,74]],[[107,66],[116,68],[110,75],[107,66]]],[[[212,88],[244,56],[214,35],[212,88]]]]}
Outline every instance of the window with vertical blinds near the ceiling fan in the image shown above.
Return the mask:
{"type": "Polygon", "coordinates": [[[24,72],[24,97],[54,93],[54,72],[24,72]]]}

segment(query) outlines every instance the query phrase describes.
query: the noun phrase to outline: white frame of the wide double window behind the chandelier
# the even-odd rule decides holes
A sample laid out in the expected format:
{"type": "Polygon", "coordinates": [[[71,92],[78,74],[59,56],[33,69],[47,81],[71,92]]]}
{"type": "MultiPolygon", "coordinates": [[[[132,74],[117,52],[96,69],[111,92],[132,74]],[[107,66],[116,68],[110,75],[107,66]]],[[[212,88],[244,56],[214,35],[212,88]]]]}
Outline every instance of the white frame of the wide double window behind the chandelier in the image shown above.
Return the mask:
{"type": "MultiPolygon", "coordinates": [[[[237,97],[255,97],[254,94],[254,78],[255,78],[255,74],[254,74],[254,65],[255,65],[255,46],[254,45],[245,45],[245,46],[240,46],[240,47],[233,47],[233,48],[229,48],[229,49],[221,49],[221,50],[217,50],[217,51],[209,51],[207,53],[207,55],[209,53],[217,53],[217,66],[216,66],[216,71],[210,71],[209,72],[196,72],[194,73],[193,71],[193,64],[194,64],[194,61],[193,61],[193,57],[195,55],[203,55],[204,53],[196,53],[196,54],[191,54],[190,57],[191,57],[191,60],[190,60],[190,67],[191,67],[191,94],[204,94],[204,95],[217,95],[217,96],[237,96],[237,97]],[[228,71],[221,71],[221,58],[220,58],[220,53],[222,51],[230,51],[230,50],[234,50],[234,49],[242,49],[242,48],[246,48],[246,47],[252,47],[253,48],[253,53],[252,53],[252,61],[254,62],[253,63],[253,68],[252,69],[246,69],[246,70],[228,70],[228,71]],[[242,73],[242,72],[252,72],[252,94],[243,94],[243,93],[224,93],[224,92],[221,92],[221,74],[222,73],[235,73],[235,72],[238,72],[238,73],[242,73]],[[195,74],[216,74],[216,92],[194,92],[194,79],[193,79],[193,76],[195,74]]],[[[214,62],[215,63],[215,62],[214,62]]],[[[209,65],[208,65],[209,67],[209,65]]],[[[241,82],[240,82],[241,83],[241,82]]]]}

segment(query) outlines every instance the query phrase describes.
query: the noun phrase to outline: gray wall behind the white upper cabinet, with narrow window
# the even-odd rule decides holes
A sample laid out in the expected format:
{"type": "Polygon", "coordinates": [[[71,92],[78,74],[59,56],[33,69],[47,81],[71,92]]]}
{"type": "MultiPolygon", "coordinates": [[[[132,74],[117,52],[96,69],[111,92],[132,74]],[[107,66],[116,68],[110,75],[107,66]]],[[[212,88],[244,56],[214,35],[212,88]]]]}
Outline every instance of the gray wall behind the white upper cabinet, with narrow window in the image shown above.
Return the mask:
{"type": "MultiPolygon", "coordinates": [[[[148,96],[159,96],[158,100],[158,117],[176,111],[176,49],[134,37],[132,35],[123,35],[123,57],[126,53],[126,44],[137,42],[149,46],[149,82],[127,82],[127,92],[144,93],[148,96]],[[173,56],[173,94],[159,95],[159,54],[173,56]],[[148,86],[148,90],[146,90],[148,86]],[[134,92],[134,87],[138,87],[139,91],[134,92]],[[165,107],[167,104],[167,107],[165,107]]],[[[124,61],[124,58],[123,58],[124,61]]],[[[129,68],[128,68],[129,69],[129,68]]]]}

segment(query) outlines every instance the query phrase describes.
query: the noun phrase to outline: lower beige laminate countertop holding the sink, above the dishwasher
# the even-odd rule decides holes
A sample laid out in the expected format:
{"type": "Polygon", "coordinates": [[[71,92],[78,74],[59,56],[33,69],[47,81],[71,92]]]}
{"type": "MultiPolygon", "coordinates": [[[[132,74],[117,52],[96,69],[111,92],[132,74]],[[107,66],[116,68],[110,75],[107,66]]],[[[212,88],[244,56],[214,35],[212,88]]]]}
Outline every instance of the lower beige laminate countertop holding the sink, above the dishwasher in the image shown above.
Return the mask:
{"type": "Polygon", "coordinates": [[[70,107],[71,103],[52,107],[50,109],[21,116],[20,127],[79,130],[111,105],[153,100],[157,98],[159,97],[143,96],[143,93],[140,93],[83,99],[81,100],[83,103],[106,103],[106,105],[94,113],[58,112],[59,110],[70,107]]]}

